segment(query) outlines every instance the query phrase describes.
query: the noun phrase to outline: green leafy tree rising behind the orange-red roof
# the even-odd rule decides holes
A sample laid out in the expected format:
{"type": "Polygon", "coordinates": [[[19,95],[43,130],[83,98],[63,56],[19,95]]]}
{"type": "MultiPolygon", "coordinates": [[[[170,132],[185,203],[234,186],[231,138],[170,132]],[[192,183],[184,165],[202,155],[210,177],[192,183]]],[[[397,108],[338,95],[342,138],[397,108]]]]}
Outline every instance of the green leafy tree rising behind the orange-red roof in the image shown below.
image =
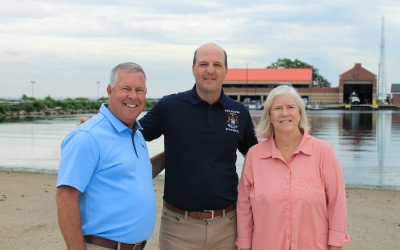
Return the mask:
{"type": "MultiPolygon", "coordinates": [[[[308,63],[295,59],[294,61],[288,58],[279,58],[278,61],[271,63],[268,69],[289,69],[289,68],[311,68],[308,63]]],[[[313,71],[313,86],[330,87],[331,83],[319,74],[318,68],[312,67],[313,71]]]]}

